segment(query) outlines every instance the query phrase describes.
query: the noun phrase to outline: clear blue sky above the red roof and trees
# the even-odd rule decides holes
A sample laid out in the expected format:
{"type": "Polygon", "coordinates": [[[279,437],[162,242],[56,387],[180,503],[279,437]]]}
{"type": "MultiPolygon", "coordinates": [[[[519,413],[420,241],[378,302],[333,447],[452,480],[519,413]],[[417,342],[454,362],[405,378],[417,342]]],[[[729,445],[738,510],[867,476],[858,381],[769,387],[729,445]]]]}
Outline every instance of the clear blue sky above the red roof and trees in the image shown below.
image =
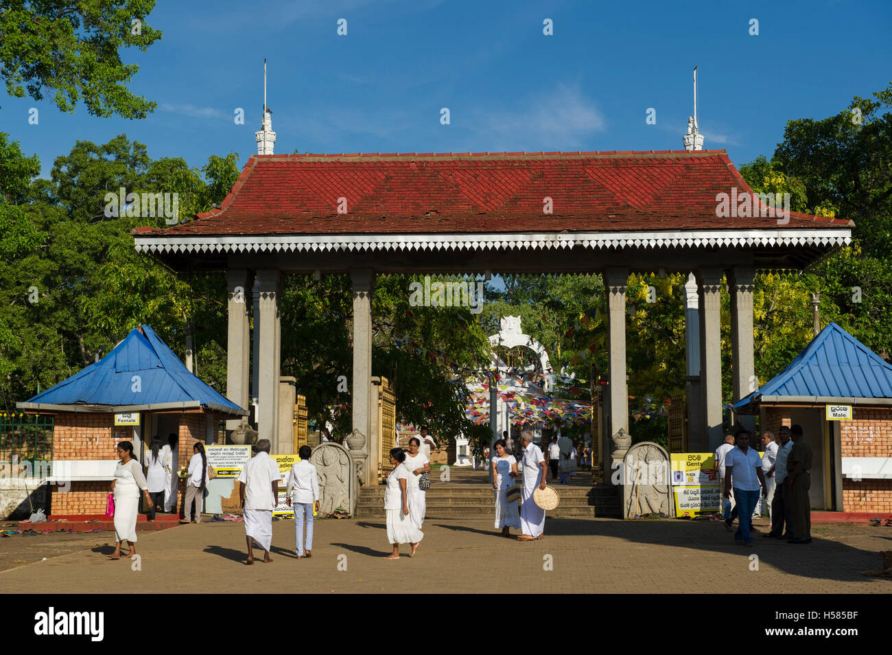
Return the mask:
{"type": "Polygon", "coordinates": [[[237,152],[244,164],[264,57],[277,153],[680,149],[698,64],[706,147],[740,164],[770,155],[787,120],[826,117],[892,79],[888,0],[158,0],[149,23],[161,40],[122,51],[140,67],[130,88],[159,105],[145,120],[64,114],[0,90],[0,130],[45,175],[76,140],[122,132],[153,158],[201,167],[237,152]]]}

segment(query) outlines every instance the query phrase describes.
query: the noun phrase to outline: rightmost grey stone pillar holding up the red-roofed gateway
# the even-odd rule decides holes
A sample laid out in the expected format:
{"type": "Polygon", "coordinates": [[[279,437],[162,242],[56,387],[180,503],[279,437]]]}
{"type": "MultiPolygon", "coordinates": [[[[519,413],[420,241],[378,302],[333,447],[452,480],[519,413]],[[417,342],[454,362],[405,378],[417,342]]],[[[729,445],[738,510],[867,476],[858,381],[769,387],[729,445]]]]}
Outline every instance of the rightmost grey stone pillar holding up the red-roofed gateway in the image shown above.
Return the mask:
{"type": "MultiPolygon", "coordinates": [[[[755,283],[756,269],[735,266],[729,271],[733,402],[756,391],[758,386],[753,347],[753,291],[756,287],[755,283]]],[[[751,414],[735,414],[734,419],[741,426],[747,428],[750,434],[756,429],[756,417],[751,414]]]]}

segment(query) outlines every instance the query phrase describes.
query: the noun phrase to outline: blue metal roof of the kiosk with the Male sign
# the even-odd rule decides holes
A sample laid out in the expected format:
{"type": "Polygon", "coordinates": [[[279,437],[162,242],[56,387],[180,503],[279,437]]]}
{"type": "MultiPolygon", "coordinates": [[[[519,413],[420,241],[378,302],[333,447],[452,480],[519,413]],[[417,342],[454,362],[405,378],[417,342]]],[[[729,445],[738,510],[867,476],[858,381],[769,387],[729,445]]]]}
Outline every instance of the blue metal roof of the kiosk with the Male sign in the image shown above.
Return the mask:
{"type": "MultiPolygon", "coordinates": [[[[892,399],[892,364],[830,323],[777,376],[733,404],[892,399]]],[[[886,404],[886,403],[884,403],[886,404]]]]}

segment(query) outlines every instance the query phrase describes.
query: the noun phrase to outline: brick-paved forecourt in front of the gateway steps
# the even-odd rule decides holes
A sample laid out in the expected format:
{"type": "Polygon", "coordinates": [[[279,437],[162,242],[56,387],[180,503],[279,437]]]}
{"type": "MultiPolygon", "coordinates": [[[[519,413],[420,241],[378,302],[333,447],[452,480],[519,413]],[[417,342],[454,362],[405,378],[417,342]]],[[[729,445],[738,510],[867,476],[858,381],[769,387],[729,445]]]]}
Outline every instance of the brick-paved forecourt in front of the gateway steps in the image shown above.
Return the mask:
{"type": "MultiPolygon", "coordinates": [[[[711,522],[549,519],[544,541],[519,543],[493,535],[491,519],[430,519],[415,559],[385,561],[383,520],[317,526],[310,560],[293,558],[290,520],[274,523],[274,561],[253,567],[243,563],[243,524],[181,526],[139,535],[141,571],[106,560],[109,545],[87,547],[0,573],[0,593],[109,593],[124,585],[146,593],[892,593],[892,581],[861,575],[879,568],[878,551],[892,549],[885,527],[815,526],[811,546],[756,535],[756,548],[747,549],[711,522]],[[758,571],[749,570],[751,553],[758,571]],[[551,571],[543,570],[546,555],[551,571]],[[337,568],[341,556],[346,571],[337,568]]],[[[114,538],[103,535],[93,543],[114,538]]],[[[14,543],[4,539],[0,548],[14,543]]]]}

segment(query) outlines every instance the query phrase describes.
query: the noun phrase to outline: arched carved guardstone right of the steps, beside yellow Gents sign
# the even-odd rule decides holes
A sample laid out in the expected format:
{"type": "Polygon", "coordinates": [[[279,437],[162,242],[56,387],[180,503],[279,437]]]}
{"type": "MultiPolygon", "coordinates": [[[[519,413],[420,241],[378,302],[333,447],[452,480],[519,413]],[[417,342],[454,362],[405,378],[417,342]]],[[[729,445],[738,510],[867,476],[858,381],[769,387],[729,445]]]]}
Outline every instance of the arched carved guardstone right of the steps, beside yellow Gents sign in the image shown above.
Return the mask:
{"type": "Polygon", "coordinates": [[[650,441],[635,444],[623,458],[623,518],[675,516],[669,453],[650,441]]]}

